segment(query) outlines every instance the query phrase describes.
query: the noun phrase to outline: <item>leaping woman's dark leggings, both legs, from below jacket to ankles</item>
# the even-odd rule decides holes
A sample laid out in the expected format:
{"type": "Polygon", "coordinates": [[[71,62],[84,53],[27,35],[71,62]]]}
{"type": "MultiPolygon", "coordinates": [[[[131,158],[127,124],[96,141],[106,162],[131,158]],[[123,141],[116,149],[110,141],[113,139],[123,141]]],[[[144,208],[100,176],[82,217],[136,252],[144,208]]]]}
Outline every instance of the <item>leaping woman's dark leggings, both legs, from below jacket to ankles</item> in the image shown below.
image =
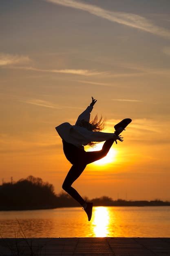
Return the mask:
{"type": "Polygon", "coordinates": [[[71,169],[64,180],[62,189],[64,189],[69,195],[72,196],[72,198],[79,202],[79,204],[83,205],[85,201],[71,185],[82,174],[87,164],[91,164],[107,155],[114,141],[115,139],[108,139],[103,144],[102,150],[92,152],[86,152],[63,141],[66,158],[73,165],[71,166],[71,169]]]}

